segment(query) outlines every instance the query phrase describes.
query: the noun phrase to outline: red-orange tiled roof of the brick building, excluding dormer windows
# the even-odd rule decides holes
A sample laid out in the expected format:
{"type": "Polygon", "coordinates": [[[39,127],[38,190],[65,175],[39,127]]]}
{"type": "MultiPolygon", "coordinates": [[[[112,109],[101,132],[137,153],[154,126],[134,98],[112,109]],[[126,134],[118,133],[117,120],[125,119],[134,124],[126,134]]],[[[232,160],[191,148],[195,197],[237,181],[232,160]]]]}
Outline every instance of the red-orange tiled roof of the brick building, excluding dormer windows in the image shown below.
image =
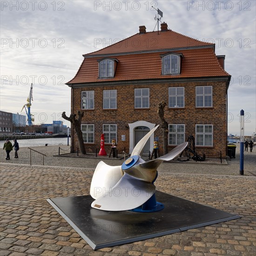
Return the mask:
{"type": "Polygon", "coordinates": [[[201,42],[170,30],[159,32],[159,35],[157,32],[135,34],[114,45],[94,53],[85,54],[84,57],[85,59],[77,74],[67,84],[229,76],[221,67],[214,53],[214,44],[201,42]],[[137,42],[137,47],[133,46],[134,42],[137,42]],[[154,43],[151,45],[150,42],[154,43]],[[162,75],[162,59],[160,55],[166,54],[172,49],[175,53],[183,54],[181,74],[162,75]],[[119,61],[115,77],[99,79],[99,63],[97,60],[106,56],[116,58],[119,61]]]}

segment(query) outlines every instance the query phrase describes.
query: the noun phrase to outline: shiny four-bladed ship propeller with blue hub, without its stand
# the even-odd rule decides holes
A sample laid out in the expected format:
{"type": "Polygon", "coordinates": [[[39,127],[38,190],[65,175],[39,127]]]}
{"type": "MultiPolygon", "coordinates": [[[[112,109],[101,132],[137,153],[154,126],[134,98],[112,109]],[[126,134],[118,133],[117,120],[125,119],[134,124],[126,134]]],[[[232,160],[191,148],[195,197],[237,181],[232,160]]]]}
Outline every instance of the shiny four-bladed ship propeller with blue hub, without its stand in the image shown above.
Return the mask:
{"type": "Polygon", "coordinates": [[[158,126],[137,143],[131,157],[121,166],[109,166],[102,161],[98,163],[90,188],[90,195],[95,199],[91,204],[93,208],[105,211],[131,210],[154,195],[153,182],[157,177],[158,166],[163,161],[174,159],[188,145],[188,142],[184,142],[168,154],[145,162],[140,156],[142,149],[158,126]]]}

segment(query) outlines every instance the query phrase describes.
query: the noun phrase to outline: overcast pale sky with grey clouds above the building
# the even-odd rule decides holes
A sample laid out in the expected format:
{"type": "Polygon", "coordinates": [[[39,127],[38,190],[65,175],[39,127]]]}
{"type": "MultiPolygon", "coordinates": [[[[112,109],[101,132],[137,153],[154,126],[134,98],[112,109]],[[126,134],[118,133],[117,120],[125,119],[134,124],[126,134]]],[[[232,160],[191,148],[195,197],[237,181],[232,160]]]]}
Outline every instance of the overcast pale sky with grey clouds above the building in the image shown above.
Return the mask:
{"type": "MultiPolygon", "coordinates": [[[[178,33],[216,43],[226,55],[232,75],[228,90],[228,134],[240,135],[240,110],[245,135],[256,131],[256,1],[255,0],[1,0],[0,108],[21,113],[33,82],[34,124],[70,115],[72,79],[94,52],[139,32],[155,28],[155,11],[178,33]]],[[[155,28],[157,30],[157,27],[155,28]]],[[[23,114],[25,114],[23,110],[23,114]]],[[[69,122],[65,121],[67,126],[69,122]]]]}

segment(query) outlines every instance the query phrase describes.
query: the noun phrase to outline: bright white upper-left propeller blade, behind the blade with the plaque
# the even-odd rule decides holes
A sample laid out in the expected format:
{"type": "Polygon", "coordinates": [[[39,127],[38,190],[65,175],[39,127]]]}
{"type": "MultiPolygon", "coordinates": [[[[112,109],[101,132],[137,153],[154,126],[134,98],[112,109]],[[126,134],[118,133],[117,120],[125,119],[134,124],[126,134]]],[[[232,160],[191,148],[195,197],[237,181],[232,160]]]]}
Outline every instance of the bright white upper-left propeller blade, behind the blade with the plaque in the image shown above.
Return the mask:
{"type": "Polygon", "coordinates": [[[124,175],[121,166],[110,166],[99,162],[92,178],[90,195],[96,199],[101,196],[102,191],[109,191],[124,175]]]}

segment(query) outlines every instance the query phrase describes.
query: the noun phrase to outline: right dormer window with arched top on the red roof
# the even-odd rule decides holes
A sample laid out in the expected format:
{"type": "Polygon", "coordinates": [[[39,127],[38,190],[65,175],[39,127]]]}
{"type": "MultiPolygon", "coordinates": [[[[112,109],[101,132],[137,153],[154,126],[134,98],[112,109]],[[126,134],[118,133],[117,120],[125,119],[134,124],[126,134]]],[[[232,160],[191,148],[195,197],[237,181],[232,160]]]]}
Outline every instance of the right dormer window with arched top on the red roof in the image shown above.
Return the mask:
{"type": "Polygon", "coordinates": [[[182,54],[162,55],[162,74],[180,74],[181,57],[182,54]]]}

